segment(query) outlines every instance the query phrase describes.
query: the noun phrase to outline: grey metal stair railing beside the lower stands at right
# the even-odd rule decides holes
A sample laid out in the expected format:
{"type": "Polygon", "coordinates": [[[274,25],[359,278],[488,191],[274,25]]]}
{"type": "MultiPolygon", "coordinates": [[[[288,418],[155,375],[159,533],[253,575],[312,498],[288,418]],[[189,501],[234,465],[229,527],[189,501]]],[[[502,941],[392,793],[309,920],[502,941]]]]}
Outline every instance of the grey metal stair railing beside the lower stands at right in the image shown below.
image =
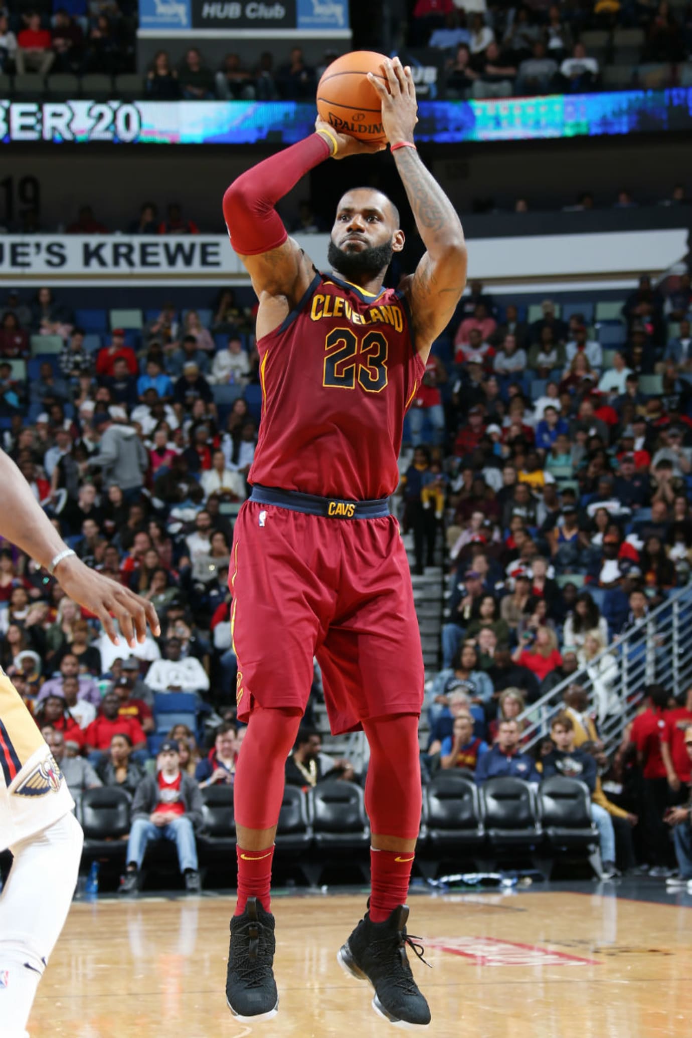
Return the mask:
{"type": "Polygon", "coordinates": [[[523,748],[530,750],[550,734],[552,718],[563,709],[563,693],[571,685],[581,685],[606,753],[611,753],[639,710],[644,687],[654,682],[675,696],[692,685],[692,584],[676,589],[588,666],[528,706],[519,718],[526,723],[523,748]]]}

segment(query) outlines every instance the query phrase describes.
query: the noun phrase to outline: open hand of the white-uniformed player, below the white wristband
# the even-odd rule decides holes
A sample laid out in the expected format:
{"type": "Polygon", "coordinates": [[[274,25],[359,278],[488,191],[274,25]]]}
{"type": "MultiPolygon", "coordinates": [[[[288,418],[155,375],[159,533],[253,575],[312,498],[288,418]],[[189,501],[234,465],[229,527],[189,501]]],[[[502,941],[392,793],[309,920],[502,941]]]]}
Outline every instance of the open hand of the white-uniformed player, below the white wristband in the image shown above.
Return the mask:
{"type": "Polygon", "coordinates": [[[161,634],[157,610],[150,602],[89,569],[75,555],[59,564],[55,577],[70,598],[99,617],[113,645],[120,644],[113,618],[131,649],[135,648],[135,639],[143,641],[146,637],[147,623],[153,634],[161,634]]]}

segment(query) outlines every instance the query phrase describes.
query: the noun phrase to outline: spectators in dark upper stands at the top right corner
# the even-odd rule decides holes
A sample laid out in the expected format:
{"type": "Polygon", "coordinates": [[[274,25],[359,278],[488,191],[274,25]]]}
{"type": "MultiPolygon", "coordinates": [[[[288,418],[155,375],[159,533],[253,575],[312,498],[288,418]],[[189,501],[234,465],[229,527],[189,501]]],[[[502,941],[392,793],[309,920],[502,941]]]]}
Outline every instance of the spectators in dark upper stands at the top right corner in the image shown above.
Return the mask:
{"type": "MultiPolygon", "coordinates": [[[[585,93],[692,83],[692,5],[411,4],[409,43],[445,56],[447,98],[585,93]]],[[[422,60],[422,58],[421,58],[422,60]]]]}

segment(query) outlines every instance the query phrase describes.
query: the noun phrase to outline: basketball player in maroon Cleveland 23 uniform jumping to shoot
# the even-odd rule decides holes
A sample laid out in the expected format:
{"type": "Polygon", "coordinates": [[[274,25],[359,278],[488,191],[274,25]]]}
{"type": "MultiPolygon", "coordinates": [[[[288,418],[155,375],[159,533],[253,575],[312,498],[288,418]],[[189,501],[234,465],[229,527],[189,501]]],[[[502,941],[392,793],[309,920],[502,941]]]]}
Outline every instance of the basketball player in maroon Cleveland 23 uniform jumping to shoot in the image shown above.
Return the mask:
{"type": "MultiPolygon", "coordinates": [[[[394,165],[426,252],[398,291],[382,282],[404,248],[398,213],[380,191],[340,200],[330,274],[286,236],[274,206],[330,156],[384,145],[315,133],[240,176],[223,210],[259,298],[262,420],[233,538],[231,626],[239,717],[248,721],[236,776],[238,904],[226,984],[239,1019],[274,1015],[270,880],[286,757],[312,676],[322,667],[332,732],[365,730],[370,763],[368,910],[339,951],[369,980],[392,1022],[431,1014],[406,954],[406,900],[420,823],[418,719],[423,664],[410,571],[387,498],[398,482],[404,415],[431,345],[466,280],[464,235],[413,144],[413,79],[395,58],[370,77],[394,165]]],[[[418,954],[422,952],[415,947],[418,954]]]]}

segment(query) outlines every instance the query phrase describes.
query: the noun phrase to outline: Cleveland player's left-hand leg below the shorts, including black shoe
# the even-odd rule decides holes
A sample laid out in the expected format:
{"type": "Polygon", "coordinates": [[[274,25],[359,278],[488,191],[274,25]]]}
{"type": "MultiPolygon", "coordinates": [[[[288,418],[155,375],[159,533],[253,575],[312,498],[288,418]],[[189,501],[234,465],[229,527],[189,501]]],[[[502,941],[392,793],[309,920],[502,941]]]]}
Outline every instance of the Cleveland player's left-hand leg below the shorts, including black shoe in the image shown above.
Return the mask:
{"type": "Polygon", "coordinates": [[[226,1002],[233,1016],[247,1022],[270,1019],[279,1005],[272,968],[272,858],[286,758],[301,717],[296,708],[255,706],[236,770],[238,903],[230,921],[226,1002]]]}

